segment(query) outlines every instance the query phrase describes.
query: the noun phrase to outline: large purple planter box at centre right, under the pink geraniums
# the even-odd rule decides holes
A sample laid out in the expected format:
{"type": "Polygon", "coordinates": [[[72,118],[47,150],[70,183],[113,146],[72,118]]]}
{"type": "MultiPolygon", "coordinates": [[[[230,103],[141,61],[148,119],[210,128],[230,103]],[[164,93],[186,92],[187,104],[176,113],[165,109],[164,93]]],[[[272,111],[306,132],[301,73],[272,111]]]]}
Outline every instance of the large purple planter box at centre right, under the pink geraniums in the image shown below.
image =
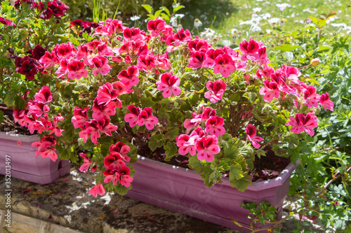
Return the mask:
{"type": "Polygon", "coordinates": [[[138,161],[132,164],[135,169],[133,188],[126,197],[241,232],[251,232],[232,223],[229,217],[249,227],[249,210],[241,208],[241,202],[267,201],[277,208],[280,220],[291,173],[299,164],[300,161],[296,165],[291,162],[277,178],[253,183],[245,192],[240,192],[230,186],[229,178],[223,178],[222,184],[207,188],[199,174],[190,169],[138,155],[138,161]]]}

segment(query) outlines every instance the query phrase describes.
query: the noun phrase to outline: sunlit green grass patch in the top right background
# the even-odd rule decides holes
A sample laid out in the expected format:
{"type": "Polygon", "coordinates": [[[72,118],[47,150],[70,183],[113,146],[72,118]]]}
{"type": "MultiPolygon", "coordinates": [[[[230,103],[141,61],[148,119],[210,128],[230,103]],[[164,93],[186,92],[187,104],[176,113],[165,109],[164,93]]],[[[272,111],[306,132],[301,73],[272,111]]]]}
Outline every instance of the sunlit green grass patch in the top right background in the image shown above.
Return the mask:
{"type": "MultiPolygon", "coordinates": [[[[267,34],[268,29],[278,28],[284,31],[293,31],[296,27],[304,27],[304,22],[312,17],[326,17],[329,13],[336,11],[336,16],[331,17],[323,28],[329,33],[336,31],[342,31],[340,27],[333,27],[331,24],[344,22],[349,26],[349,29],[344,30],[346,34],[350,31],[351,34],[351,1],[350,0],[314,0],[314,1],[298,1],[298,0],[287,0],[287,1],[244,1],[237,0],[232,1],[237,10],[234,10],[226,20],[221,24],[215,24],[213,29],[219,34],[220,38],[230,40],[232,43],[238,43],[242,38],[248,39],[250,36],[259,36],[267,34]],[[276,6],[277,3],[289,3],[283,11],[279,10],[276,6]],[[268,19],[261,19],[258,23],[260,27],[259,31],[253,30],[250,24],[242,24],[245,21],[251,20],[255,8],[261,8],[258,15],[263,16],[267,13],[270,14],[269,18],[279,18],[279,21],[284,20],[284,26],[279,23],[268,22],[268,19]],[[324,14],[324,15],[323,15],[324,14]],[[240,24],[241,23],[241,24],[240,24]],[[239,31],[239,34],[237,33],[239,31]],[[240,36],[241,32],[241,36],[240,36]],[[237,37],[236,40],[232,40],[233,34],[237,37]]],[[[269,31],[268,31],[269,33],[269,31]]]]}

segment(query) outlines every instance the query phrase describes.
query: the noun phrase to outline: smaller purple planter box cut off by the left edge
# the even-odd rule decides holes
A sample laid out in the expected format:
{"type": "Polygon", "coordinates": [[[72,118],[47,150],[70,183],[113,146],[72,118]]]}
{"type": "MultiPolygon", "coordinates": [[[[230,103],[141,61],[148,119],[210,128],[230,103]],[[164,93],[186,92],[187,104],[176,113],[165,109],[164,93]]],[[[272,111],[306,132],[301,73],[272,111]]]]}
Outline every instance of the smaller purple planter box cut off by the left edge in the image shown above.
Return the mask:
{"type": "Polygon", "coordinates": [[[37,148],[32,147],[32,142],[39,140],[37,135],[0,132],[0,174],[6,174],[6,155],[11,157],[11,177],[44,185],[69,174],[69,161],[53,162],[49,158],[43,159],[34,155],[37,148]],[[22,146],[19,146],[17,141],[20,141],[22,146]]]}

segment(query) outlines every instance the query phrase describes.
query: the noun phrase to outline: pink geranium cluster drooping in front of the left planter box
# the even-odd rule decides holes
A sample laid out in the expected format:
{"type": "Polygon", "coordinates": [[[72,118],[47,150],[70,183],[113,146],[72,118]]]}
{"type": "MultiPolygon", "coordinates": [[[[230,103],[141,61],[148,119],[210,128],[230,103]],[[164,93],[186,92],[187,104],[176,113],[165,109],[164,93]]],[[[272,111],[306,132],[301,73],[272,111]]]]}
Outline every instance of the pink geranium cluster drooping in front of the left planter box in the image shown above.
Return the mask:
{"type": "MultiPolygon", "coordinates": [[[[55,136],[62,136],[64,129],[58,127],[58,122],[63,120],[59,113],[53,119],[48,118],[48,111],[50,107],[48,104],[53,100],[51,91],[48,86],[41,87],[41,90],[34,96],[33,101],[29,101],[27,107],[23,110],[15,109],[13,111],[13,118],[23,127],[27,127],[31,134],[35,130],[41,134],[47,132],[48,135],[55,134],[55,136]]],[[[32,146],[37,147],[36,156],[49,157],[55,161],[58,155],[55,153],[56,139],[55,136],[43,136],[41,141],[32,143],[32,146]]]]}

